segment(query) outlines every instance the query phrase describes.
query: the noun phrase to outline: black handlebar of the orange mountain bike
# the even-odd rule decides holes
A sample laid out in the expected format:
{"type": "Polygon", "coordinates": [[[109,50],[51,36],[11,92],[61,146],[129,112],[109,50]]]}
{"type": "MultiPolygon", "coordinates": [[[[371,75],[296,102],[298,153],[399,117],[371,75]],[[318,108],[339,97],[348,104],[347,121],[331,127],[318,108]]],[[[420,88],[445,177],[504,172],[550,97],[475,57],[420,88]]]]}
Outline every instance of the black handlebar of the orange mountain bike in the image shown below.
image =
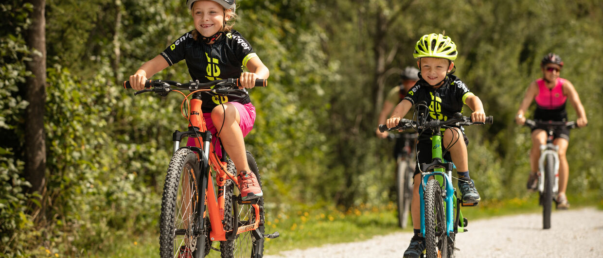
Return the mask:
{"type": "MultiPolygon", "coordinates": [[[[268,80],[266,79],[257,79],[255,86],[256,87],[266,87],[268,84],[268,80]]],[[[234,89],[234,87],[240,87],[239,79],[224,79],[224,80],[215,80],[209,81],[207,83],[199,83],[199,81],[189,81],[188,83],[178,83],[177,81],[163,81],[163,80],[147,80],[145,81],[145,89],[139,90],[134,95],[138,95],[140,93],[145,92],[156,92],[163,93],[169,92],[170,86],[175,86],[177,89],[181,90],[201,90],[201,89],[209,89],[212,86],[223,86],[221,89],[212,89],[213,93],[225,94],[228,93],[229,90],[234,89]],[[156,88],[158,90],[153,90],[151,88],[156,88]]],[[[132,89],[130,85],[130,81],[124,81],[124,89],[132,89]]]]}

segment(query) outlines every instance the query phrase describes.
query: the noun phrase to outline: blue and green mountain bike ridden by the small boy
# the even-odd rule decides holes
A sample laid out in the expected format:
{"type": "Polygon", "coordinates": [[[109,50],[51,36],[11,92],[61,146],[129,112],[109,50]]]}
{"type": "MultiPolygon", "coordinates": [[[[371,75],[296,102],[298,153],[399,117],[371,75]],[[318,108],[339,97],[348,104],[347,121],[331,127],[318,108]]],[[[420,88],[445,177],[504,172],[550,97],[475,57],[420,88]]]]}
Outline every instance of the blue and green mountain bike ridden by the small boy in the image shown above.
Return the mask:
{"type": "MultiPolygon", "coordinates": [[[[418,104],[418,106],[424,104],[418,104]]],[[[425,107],[427,107],[425,105],[425,107]]],[[[418,109],[416,109],[418,110],[418,109]]],[[[413,128],[422,133],[432,135],[432,162],[421,163],[421,184],[419,188],[421,200],[421,234],[425,236],[426,256],[452,257],[455,250],[455,234],[466,231],[467,218],[463,217],[461,206],[475,206],[475,204],[464,205],[457,197],[456,190],[452,184],[452,162],[446,162],[442,157],[442,133],[441,129],[454,126],[468,126],[474,124],[492,124],[492,116],[488,116],[484,122],[472,122],[470,117],[456,113],[453,118],[446,121],[426,121],[427,112],[420,112],[417,119],[401,119],[397,127],[387,128],[379,125],[380,131],[406,130],[413,128]]],[[[462,139],[462,137],[461,137],[462,139]]]]}

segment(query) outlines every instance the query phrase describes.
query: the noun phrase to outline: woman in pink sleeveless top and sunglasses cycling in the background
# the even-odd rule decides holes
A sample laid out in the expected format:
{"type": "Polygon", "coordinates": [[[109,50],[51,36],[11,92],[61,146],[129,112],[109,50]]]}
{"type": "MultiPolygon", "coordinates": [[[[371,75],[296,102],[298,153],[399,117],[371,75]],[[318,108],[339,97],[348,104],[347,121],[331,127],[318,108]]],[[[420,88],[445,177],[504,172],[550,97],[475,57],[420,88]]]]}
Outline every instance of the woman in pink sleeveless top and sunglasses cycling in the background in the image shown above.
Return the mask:
{"type": "MultiPolygon", "coordinates": [[[[532,99],[536,101],[534,119],[544,121],[567,121],[566,102],[572,103],[576,110],[576,124],[584,127],[588,123],[586,112],[578,96],[578,92],[570,81],[559,77],[563,68],[563,61],[557,54],[549,53],[540,61],[542,78],[532,81],[528,86],[525,97],[519,105],[515,121],[519,125],[525,124],[525,112],[528,110],[532,99]]],[[[528,177],[527,188],[535,190],[538,186],[538,158],[540,157],[540,145],[546,144],[546,128],[534,128],[532,130],[532,149],[530,150],[531,172],[528,177]]],[[[558,128],[553,134],[553,143],[559,146],[559,194],[555,198],[557,209],[569,208],[566,189],[569,177],[569,165],[567,164],[567,145],[569,143],[569,129],[558,128]]]]}

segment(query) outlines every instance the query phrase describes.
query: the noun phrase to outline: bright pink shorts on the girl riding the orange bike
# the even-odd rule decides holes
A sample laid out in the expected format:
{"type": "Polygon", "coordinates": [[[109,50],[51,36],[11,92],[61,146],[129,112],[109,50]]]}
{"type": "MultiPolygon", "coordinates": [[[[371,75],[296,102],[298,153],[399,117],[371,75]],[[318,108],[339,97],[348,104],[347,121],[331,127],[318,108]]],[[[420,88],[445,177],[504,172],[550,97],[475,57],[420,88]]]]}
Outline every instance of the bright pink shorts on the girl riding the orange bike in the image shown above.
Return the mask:
{"type": "MultiPolygon", "coordinates": [[[[239,102],[228,103],[234,105],[236,110],[239,111],[239,116],[241,117],[239,127],[241,127],[243,137],[247,136],[251,129],[253,129],[254,122],[256,122],[256,107],[251,104],[251,102],[247,104],[241,104],[239,102]]],[[[218,157],[222,157],[222,148],[218,144],[218,137],[216,137],[218,130],[213,126],[212,113],[203,113],[203,118],[205,119],[207,130],[212,132],[212,143],[214,150],[216,151],[216,154],[218,154],[218,157]]],[[[195,140],[193,138],[189,138],[188,142],[186,142],[186,146],[195,146],[195,140]]]]}

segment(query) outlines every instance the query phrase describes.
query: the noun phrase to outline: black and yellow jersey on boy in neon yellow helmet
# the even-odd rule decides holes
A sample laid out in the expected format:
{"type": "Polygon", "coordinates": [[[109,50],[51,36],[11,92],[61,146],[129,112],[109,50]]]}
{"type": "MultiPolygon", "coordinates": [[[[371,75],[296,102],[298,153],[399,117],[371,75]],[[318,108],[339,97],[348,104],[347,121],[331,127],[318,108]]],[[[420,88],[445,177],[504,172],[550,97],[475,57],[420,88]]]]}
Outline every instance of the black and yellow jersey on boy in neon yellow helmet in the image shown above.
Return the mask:
{"type": "Polygon", "coordinates": [[[404,99],[413,105],[425,101],[429,107],[428,120],[446,121],[455,113],[463,113],[467,97],[473,95],[469,88],[455,75],[448,75],[438,89],[430,86],[423,78],[412,86],[404,99]]]}

